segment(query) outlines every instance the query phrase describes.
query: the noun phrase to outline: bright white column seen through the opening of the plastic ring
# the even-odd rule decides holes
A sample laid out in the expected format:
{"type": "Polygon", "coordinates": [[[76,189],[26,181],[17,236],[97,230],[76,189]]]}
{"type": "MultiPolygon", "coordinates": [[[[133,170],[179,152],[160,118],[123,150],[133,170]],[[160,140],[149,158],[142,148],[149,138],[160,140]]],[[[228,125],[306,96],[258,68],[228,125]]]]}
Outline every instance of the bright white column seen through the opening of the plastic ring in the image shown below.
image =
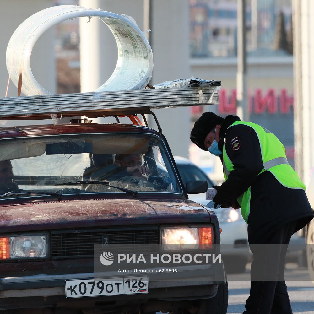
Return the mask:
{"type": "MultiPolygon", "coordinates": [[[[80,0],[81,7],[132,16],[143,30],[143,0],[80,0]]],[[[118,50],[109,28],[98,18],[80,18],[81,92],[106,82],[116,67],[118,50]]]]}

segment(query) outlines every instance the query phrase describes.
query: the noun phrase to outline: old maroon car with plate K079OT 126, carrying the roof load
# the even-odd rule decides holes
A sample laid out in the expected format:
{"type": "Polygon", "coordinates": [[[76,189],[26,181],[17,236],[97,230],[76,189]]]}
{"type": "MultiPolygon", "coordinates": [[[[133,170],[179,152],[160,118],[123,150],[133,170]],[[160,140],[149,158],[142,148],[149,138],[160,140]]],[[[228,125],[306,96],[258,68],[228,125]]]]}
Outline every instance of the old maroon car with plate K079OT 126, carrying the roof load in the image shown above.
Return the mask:
{"type": "Polygon", "coordinates": [[[1,128],[0,313],[226,313],[222,263],[163,265],[163,280],[154,269],[95,277],[95,260],[112,263],[115,245],[168,256],[219,244],[214,212],[187,197],[206,189],[183,186],[165,137],[149,127],[1,128]]]}

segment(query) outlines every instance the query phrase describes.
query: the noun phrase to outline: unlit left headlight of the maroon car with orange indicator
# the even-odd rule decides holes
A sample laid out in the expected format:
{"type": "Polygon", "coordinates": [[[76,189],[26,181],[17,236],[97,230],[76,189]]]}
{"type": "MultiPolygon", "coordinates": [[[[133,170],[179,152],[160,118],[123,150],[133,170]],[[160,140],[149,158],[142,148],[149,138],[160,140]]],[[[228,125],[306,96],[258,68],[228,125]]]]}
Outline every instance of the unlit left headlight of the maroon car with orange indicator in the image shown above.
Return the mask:
{"type": "Polygon", "coordinates": [[[0,237],[0,260],[49,257],[48,234],[24,234],[0,237]]]}

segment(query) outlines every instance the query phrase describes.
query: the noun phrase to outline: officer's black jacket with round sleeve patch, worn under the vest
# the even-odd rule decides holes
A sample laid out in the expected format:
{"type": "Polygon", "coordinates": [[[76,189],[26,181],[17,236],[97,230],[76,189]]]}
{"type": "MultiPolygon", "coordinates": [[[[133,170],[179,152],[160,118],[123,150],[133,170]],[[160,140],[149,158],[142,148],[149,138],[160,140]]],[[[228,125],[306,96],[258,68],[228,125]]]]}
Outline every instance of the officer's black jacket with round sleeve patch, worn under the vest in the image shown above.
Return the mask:
{"type": "Polygon", "coordinates": [[[236,125],[226,131],[237,120],[240,119],[236,116],[227,116],[221,126],[218,148],[222,151],[225,138],[234,170],[217,194],[235,200],[251,187],[248,230],[268,232],[295,220],[298,222],[294,232],[300,230],[314,216],[305,191],[284,187],[269,171],[258,175],[263,161],[255,131],[246,125],[236,125]]]}

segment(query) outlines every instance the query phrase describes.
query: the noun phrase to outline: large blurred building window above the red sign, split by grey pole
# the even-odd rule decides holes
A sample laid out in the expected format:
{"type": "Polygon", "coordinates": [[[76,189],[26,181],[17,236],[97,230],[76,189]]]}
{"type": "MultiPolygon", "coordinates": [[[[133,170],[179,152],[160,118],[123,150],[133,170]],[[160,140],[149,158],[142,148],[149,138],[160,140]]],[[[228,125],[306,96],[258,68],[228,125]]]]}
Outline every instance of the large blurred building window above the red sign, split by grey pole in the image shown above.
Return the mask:
{"type": "MultiPolygon", "coordinates": [[[[292,54],[292,0],[258,0],[256,7],[251,7],[251,4],[247,1],[248,54],[292,54]],[[255,16],[257,27],[252,23],[255,16]]],[[[190,10],[191,56],[235,57],[237,0],[193,0],[190,1],[190,10]]]]}

